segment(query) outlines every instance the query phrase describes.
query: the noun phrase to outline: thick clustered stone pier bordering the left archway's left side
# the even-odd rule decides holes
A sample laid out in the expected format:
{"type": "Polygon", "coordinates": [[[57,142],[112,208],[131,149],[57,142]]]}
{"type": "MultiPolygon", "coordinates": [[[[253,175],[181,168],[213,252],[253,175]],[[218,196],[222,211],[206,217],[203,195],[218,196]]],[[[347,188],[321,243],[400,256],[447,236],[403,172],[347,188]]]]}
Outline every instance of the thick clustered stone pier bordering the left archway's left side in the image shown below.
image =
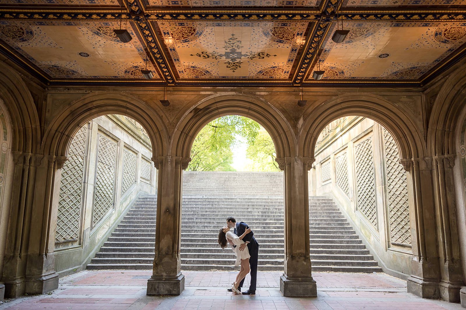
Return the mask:
{"type": "Polygon", "coordinates": [[[14,152],[12,212],[2,279],[7,297],[58,288],[53,251],[61,168],[66,158],[43,159],[43,155],[14,152]]]}

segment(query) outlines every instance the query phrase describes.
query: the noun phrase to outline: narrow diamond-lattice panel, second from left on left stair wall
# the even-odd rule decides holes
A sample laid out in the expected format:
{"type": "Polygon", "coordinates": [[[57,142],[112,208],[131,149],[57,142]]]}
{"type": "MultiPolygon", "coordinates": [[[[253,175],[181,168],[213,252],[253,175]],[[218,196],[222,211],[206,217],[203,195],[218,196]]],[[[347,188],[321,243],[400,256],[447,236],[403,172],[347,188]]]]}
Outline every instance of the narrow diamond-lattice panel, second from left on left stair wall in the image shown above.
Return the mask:
{"type": "Polygon", "coordinates": [[[116,163],[117,145],[99,134],[96,191],[94,193],[94,210],[92,212],[93,225],[100,221],[107,211],[113,208],[116,163]]]}

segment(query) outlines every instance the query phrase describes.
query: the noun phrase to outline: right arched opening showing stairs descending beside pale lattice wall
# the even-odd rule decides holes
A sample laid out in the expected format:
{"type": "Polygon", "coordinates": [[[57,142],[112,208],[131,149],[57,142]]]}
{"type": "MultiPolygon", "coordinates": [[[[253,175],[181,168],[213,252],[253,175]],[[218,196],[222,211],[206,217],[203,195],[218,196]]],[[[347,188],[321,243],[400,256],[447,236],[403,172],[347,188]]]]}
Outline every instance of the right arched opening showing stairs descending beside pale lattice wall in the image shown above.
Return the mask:
{"type": "Polygon", "coordinates": [[[309,201],[313,270],[383,269],[407,278],[413,231],[408,178],[391,131],[369,118],[344,116],[323,128],[314,154],[310,183],[316,197],[309,201]]]}

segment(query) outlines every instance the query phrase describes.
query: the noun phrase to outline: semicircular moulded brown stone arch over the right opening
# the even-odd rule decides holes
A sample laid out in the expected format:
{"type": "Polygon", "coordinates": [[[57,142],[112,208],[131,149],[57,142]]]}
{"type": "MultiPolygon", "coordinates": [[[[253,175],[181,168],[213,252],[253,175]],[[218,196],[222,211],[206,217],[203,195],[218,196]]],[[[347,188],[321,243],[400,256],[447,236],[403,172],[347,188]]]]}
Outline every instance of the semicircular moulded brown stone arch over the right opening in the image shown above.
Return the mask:
{"type": "Polygon", "coordinates": [[[322,130],[344,116],[363,116],[383,125],[395,139],[400,157],[422,158],[425,144],[421,130],[406,113],[391,102],[375,95],[342,95],[318,106],[304,120],[299,133],[299,153],[314,158],[314,149],[322,130]]]}

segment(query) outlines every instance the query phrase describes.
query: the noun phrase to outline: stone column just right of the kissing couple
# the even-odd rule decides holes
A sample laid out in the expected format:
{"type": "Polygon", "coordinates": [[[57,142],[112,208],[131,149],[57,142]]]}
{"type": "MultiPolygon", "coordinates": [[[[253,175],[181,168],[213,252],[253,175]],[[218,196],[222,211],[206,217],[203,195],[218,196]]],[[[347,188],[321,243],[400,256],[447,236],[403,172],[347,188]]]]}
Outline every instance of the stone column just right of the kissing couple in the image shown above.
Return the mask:
{"type": "Polygon", "coordinates": [[[314,158],[276,158],[284,171],[285,262],[280,290],[285,297],[315,297],[309,256],[308,171],[314,158]]]}

